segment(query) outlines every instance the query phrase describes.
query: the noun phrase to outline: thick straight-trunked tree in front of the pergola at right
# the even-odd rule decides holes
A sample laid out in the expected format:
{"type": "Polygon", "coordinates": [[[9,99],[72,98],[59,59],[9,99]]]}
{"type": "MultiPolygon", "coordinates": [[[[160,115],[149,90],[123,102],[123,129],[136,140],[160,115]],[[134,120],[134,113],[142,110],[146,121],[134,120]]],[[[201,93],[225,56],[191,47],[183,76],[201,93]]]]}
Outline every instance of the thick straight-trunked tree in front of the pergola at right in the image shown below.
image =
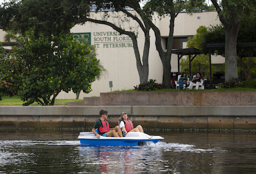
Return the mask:
{"type": "MultiPolygon", "coordinates": [[[[201,0],[191,0],[198,3],[204,2],[201,0]]],[[[211,0],[218,12],[219,20],[225,28],[225,80],[229,81],[238,78],[237,73],[237,35],[239,33],[241,16],[250,14],[256,10],[255,0],[211,0]]]]}

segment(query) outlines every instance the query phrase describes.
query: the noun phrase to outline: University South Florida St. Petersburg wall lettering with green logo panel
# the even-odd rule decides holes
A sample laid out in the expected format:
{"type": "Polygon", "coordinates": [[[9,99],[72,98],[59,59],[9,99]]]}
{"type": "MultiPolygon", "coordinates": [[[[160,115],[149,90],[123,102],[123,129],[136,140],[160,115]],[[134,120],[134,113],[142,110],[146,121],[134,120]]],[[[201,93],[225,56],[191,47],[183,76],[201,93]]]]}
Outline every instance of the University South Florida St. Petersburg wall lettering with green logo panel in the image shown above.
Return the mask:
{"type": "MultiPolygon", "coordinates": [[[[73,33],[75,39],[86,38],[91,44],[91,32],[73,33]]],[[[133,47],[131,38],[120,35],[118,31],[93,32],[93,42],[96,48],[128,48],[133,47]]]]}

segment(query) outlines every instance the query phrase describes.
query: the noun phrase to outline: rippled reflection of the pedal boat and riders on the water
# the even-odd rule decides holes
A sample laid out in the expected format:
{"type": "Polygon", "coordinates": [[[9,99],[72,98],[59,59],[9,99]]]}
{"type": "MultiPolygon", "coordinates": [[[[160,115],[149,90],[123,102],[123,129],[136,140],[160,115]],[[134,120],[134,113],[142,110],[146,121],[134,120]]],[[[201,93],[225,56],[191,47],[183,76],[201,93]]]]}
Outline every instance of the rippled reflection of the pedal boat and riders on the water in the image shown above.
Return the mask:
{"type": "Polygon", "coordinates": [[[159,165],[156,158],[162,156],[160,148],[155,148],[155,150],[152,150],[152,148],[154,147],[151,147],[151,145],[137,147],[80,146],[79,159],[82,168],[94,168],[101,173],[152,171],[150,168],[159,165]]]}

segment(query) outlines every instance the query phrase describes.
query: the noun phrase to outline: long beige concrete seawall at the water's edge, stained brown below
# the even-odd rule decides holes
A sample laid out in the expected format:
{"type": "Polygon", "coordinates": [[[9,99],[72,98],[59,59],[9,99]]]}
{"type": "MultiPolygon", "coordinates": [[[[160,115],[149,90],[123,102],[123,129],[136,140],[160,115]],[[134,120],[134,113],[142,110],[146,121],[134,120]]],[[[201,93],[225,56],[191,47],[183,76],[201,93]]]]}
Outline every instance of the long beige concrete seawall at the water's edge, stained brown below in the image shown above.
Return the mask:
{"type": "Polygon", "coordinates": [[[102,108],[112,127],[125,111],[145,129],[256,129],[255,106],[0,106],[0,128],[90,130],[102,108]]]}

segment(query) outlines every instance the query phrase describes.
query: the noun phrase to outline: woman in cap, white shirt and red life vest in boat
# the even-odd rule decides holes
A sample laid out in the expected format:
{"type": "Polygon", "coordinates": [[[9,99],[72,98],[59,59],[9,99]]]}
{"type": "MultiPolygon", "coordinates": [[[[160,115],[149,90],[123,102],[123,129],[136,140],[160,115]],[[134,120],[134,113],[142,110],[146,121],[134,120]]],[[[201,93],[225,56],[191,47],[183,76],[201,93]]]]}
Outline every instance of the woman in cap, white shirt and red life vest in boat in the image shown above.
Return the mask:
{"type": "Polygon", "coordinates": [[[123,112],[121,117],[118,120],[118,125],[123,132],[123,135],[127,134],[128,132],[143,132],[143,128],[141,125],[138,125],[136,128],[133,127],[133,122],[128,119],[127,113],[123,112]]]}

